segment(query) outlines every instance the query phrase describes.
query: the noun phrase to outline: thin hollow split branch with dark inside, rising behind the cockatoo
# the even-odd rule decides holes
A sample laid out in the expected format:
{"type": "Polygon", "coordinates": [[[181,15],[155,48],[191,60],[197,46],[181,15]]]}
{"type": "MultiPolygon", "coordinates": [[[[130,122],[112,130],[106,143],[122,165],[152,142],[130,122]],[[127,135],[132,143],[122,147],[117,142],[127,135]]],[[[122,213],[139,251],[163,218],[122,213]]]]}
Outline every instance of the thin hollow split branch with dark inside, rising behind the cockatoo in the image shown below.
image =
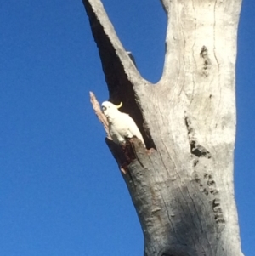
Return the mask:
{"type": "Polygon", "coordinates": [[[136,122],[147,148],[155,147],[150,131],[140,111],[140,100],[137,93],[147,94],[150,82],[139,75],[139,71],[116,36],[103,4],[99,0],[83,0],[88,14],[94,40],[99,48],[105,80],[109,90],[110,101],[114,104],[123,103],[122,111],[128,113],[136,122]],[[146,86],[147,85],[147,86],[146,86]]]}

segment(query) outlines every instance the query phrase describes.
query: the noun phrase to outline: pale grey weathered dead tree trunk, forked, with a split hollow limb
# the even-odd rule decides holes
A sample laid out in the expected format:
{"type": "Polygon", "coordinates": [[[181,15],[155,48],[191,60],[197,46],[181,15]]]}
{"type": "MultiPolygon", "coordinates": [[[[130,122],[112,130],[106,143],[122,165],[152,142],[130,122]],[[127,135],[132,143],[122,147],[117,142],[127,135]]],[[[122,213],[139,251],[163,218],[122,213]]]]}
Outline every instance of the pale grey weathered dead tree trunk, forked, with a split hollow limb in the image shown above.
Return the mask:
{"type": "Polygon", "coordinates": [[[161,0],[166,57],[156,84],[140,76],[102,3],[83,3],[110,100],[123,102],[147,147],[133,139],[132,154],[106,139],[139,216],[144,255],[243,255],[233,186],[241,0],[161,0]]]}

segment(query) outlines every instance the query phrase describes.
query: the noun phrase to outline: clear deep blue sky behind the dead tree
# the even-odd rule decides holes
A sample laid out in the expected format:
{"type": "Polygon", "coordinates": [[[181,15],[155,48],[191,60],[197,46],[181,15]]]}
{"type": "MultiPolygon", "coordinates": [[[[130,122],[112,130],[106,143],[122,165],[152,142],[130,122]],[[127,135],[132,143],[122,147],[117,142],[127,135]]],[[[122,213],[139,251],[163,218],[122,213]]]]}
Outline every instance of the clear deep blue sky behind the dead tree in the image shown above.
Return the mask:
{"type": "MultiPolygon", "coordinates": [[[[139,71],[161,77],[159,0],[105,0],[139,71]]],[[[237,65],[235,196],[255,251],[255,2],[244,0],[237,65]]],[[[143,236],[89,90],[107,100],[82,0],[0,1],[0,255],[140,256],[143,236]]],[[[226,46],[228,47],[228,46],[226,46]]]]}

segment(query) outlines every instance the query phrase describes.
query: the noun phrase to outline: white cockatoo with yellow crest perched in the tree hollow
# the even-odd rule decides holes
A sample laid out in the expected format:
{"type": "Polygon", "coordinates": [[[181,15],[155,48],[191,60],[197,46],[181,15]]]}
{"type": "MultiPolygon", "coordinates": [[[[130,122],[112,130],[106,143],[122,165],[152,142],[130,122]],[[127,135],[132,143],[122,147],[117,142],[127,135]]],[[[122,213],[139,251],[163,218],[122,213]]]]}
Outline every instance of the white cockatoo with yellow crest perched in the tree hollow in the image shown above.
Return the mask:
{"type": "Polygon", "coordinates": [[[109,122],[109,133],[111,138],[116,144],[125,143],[125,138],[131,139],[136,136],[140,139],[145,147],[144,139],[139,131],[133,118],[119,111],[118,109],[122,106],[114,105],[110,101],[104,101],[102,103],[102,111],[109,122]]]}

